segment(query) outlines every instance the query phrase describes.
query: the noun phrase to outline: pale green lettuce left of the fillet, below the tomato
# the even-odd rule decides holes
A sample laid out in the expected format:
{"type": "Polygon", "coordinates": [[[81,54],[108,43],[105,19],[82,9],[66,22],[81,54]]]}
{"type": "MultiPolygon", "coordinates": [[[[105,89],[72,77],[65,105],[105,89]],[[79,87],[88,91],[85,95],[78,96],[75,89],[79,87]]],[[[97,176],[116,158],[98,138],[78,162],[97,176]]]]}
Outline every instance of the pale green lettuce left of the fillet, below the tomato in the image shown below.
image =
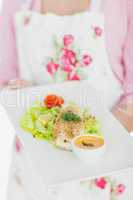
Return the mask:
{"type": "Polygon", "coordinates": [[[53,141],[53,128],[59,108],[48,109],[41,104],[34,104],[22,117],[21,128],[37,139],[53,141]]]}

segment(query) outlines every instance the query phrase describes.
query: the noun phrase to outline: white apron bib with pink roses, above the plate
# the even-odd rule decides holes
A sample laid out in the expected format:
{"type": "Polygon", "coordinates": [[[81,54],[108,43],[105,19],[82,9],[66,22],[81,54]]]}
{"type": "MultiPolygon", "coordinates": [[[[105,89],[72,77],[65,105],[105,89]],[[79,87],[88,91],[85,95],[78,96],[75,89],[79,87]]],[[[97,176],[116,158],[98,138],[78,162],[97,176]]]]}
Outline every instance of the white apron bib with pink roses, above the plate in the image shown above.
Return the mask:
{"type": "Polygon", "coordinates": [[[96,3],[94,9],[70,16],[17,13],[21,77],[37,84],[87,80],[104,93],[120,96],[106,53],[104,17],[96,3]]]}

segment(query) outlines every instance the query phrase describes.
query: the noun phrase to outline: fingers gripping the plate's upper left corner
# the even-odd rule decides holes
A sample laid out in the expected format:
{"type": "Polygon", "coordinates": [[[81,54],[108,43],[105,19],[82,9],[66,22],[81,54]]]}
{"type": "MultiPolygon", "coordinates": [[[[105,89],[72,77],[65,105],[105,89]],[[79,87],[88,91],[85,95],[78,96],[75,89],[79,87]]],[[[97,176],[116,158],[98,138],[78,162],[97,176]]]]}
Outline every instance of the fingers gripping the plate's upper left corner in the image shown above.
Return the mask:
{"type": "Polygon", "coordinates": [[[25,88],[25,87],[28,87],[30,85],[31,85],[31,83],[29,81],[27,81],[27,80],[13,79],[13,80],[10,80],[8,82],[7,88],[15,90],[15,89],[25,88]]]}

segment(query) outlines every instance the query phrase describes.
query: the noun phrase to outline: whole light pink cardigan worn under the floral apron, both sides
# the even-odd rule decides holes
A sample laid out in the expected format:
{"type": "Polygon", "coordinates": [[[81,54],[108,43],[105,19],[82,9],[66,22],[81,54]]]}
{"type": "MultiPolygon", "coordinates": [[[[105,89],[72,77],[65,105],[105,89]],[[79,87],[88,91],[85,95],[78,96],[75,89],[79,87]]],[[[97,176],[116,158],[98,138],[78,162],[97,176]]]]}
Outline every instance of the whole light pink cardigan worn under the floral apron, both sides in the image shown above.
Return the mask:
{"type": "MultiPolygon", "coordinates": [[[[14,14],[26,0],[3,0],[0,20],[0,85],[19,77],[15,43],[14,14]]],[[[40,0],[27,0],[28,8],[39,10],[40,0]]],[[[106,44],[112,70],[122,84],[123,97],[133,102],[133,0],[103,0],[106,44]]]]}

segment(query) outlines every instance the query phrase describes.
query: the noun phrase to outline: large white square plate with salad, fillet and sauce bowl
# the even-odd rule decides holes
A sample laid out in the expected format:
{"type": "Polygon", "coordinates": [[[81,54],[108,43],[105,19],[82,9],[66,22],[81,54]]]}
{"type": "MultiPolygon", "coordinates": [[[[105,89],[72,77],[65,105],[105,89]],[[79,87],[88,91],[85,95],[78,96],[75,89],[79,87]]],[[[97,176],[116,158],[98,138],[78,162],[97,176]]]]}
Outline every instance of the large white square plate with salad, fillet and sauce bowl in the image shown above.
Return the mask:
{"type": "Polygon", "coordinates": [[[42,185],[89,180],[133,166],[132,138],[104,107],[102,94],[87,83],[1,95],[23,145],[24,168],[42,185]]]}

